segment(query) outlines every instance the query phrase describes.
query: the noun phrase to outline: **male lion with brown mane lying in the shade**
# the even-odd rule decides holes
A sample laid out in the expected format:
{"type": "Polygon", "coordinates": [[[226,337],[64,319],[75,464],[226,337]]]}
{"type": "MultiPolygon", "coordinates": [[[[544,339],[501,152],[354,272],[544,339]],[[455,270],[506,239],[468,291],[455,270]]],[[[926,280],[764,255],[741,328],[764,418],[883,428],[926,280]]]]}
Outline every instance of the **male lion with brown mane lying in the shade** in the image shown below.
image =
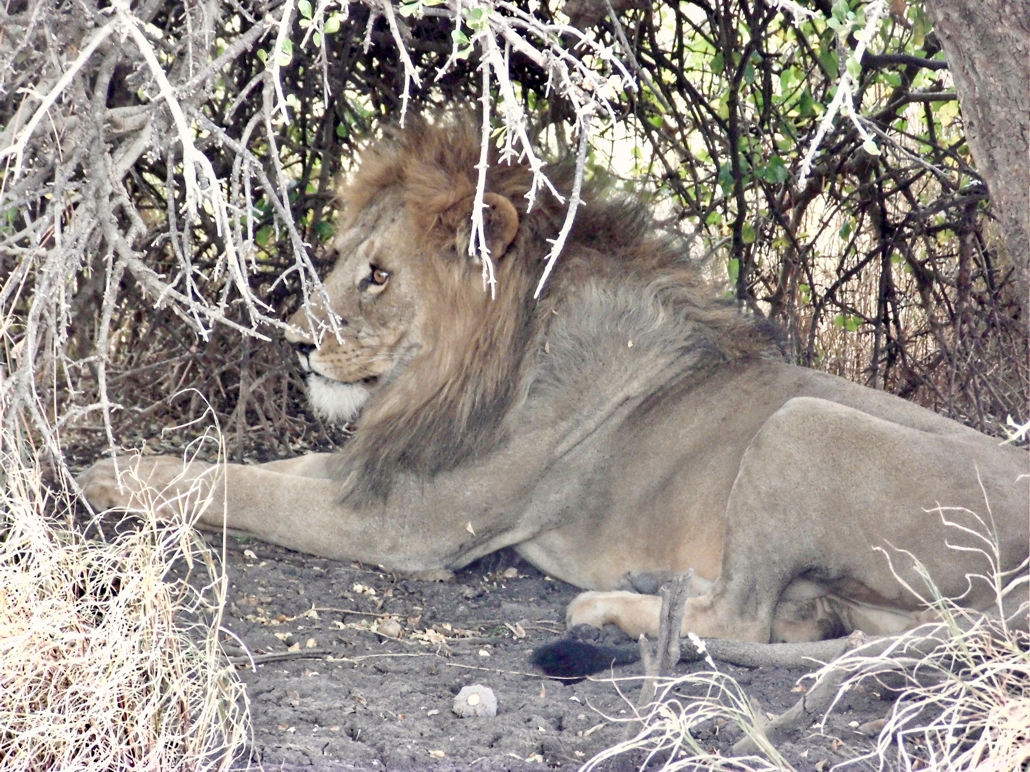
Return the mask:
{"type": "MultiPolygon", "coordinates": [[[[473,121],[468,121],[472,124],[473,121]]],[[[418,122],[373,147],[346,192],[325,282],[339,335],[316,346],[312,301],[288,336],[322,416],[357,420],[336,454],[259,466],[147,458],[168,506],[222,495],[228,527],[399,571],[454,569],[514,546],[592,592],[570,625],[654,633],[662,576],[694,568],[684,633],[752,641],[891,633],[939,590],[986,609],[968,574],[1028,554],[1028,455],[832,376],[785,364],[760,320],[699,278],[640,203],[587,190],[541,300],[564,208],[527,210],[524,166],[492,164],[485,233],[496,299],[469,255],[478,129],[418,122]],[[892,572],[887,550],[893,561],[892,572]]],[[[555,171],[559,178],[565,172],[555,171]]],[[[568,179],[565,180],[568,182],[568,179]]],[[[566,185],[568,187],[568,185],[566,185]]],[[[588,186],[589,187],[589,186],[588,186]]],[[[81,478],[98,507],[131,506],[110,461],[81,478]]],[[[201,517],[222,527],[220,507],[201,517]]]]}

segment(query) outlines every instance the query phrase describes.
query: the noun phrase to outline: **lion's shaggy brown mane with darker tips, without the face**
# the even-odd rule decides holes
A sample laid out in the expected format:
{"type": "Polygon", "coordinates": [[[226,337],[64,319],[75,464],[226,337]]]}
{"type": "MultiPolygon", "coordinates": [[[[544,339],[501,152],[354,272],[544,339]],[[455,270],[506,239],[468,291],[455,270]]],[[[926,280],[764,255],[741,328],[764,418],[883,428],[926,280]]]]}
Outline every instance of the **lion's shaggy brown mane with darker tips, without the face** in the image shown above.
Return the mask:
{"type": "MultiPolygon", "coordinates": [[[[539,377],[536,359],[552,310],[587,281],[631,287],[642,302],[667,307],[674,323],[693,325],[692,335],[703,336],[719,358],[763,355],[771,347],[760,323],[714,300],[681,240],[657,229],[642,202],[593,183],[584,185],[570,239],[542,297],[533,300],[547,240],[558,233],[565,207],[541,190],[528,211],[528,167],[502,164],[495,151],[486,189],[507,197],[520,221],[496,260],[491,301],[479,267],[456,259],[454,235],[441,224],[450,207],[475,192],[477,124],[471,115],[440,125],[409,121],[367,151],[342,195],[352,221],[380,191],[399,186],[441,279],[440,288],[426,288],[441,296],[434,299],[439,318],[428,322],[424,349],[366,406],[341,455],[354,503],[384,498],[398,475],[432,477],[503,442],[513,408],[539,377]]],[[[559,190],[572,187],[572,171],[568,161],[547,169],[559,190]]]]}

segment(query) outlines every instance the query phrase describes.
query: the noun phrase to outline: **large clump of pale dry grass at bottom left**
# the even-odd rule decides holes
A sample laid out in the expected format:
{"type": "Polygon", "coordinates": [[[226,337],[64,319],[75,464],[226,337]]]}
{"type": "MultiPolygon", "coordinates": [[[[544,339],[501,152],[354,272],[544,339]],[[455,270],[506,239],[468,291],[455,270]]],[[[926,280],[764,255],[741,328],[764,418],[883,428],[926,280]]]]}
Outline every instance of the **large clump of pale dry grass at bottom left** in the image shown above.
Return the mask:
{"type": "Polygon", "coordinates": [[[71,495],[4,440],[3,769],[228,768],[249,734],[247,701],[219,647],[227,583],[203,538],[144,512],[106,542],[87,539],[58,519],[71,495]]]}

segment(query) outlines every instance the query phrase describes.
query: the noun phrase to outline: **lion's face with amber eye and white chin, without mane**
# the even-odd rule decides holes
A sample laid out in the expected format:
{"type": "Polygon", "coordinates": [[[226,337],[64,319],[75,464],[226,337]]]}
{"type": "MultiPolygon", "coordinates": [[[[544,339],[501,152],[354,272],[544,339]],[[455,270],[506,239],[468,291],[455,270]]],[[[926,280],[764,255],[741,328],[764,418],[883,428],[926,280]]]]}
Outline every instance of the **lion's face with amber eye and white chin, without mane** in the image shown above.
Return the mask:
{"type": "Polygon", "coordinates": [[[401,194],[383,191],[333,245],[337,264],[324,286],[339,334],[316,292],[289,318],[297,329],[286,340],[297,347],[311,407],[328,420],[353,420],[421,347],[417,289],[424,277],[412,237],[401,194]]]}

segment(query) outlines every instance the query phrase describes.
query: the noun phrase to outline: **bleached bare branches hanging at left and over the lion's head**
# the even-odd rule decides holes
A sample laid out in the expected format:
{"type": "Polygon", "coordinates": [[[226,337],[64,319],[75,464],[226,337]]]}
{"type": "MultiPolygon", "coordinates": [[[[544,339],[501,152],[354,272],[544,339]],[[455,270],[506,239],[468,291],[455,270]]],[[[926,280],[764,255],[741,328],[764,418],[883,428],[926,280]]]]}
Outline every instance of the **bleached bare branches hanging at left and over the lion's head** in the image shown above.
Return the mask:
{"type": "MultiPolygon", "coordinates": [[[[519,160],[528,165],[530,208],[545,188],[564,201],[534,147],[526,108],[510,74],[512,55],[541,68],[548,78],[548,94],[572,108],[572,136],[578,146],[575,184],[565,220],[551,244],[539,294],[580,204],[590,140],[603,121],[617,119],[608,100],[636,87],[630,72],[592,32],[544,21],[506,0],[362,2],[371,11],[370,30],[376,17],[385,19],[397,46],[405,82],[398,116],[402,121],[412,86],[423,82],[406,48],[411,38],[405,22],[408,16],[426,13],[454,22],[458,34],[438,77],[462,58],[475,52],[480,57],[484,163],[479,166],[470,250],[482,261],[485,286],[491,291],[496,277],[483,222],[489,143],[496,138],[501,163],[519,160]]],[[[8,428],[20,410],[31,417],[41,434],[54,425],[81,424],[89,414],[99,412],[107,440],[113,443],[111,413],[121,408],[106,390],[109,358],[118,340],[111,324],[124,303],[126,281],[134,282],[149,303],[168,309],[205,339],[218,324],[256,338],[267,337],[263,328],[283,327],[251,287],[260,271],[253,221],[262,215],[254,208],[255,188],[271,205],[275,227],[288,236],[285,248],[293,253],[294,264],[279,281],[288,276],[300,285],[302,307],[308,310],[316,336],[341,335],[333,315],[327,324],[311,312],[313,295],[318,295],[317,305],[323,307],[328,299],[310,246],[294,220],[288,199],[293,181],[281,157],[289,150],[280,148],[276,132],[296,112],[287,109],[291,95],[286,94],[283,68],[305,45],[314,43],[324,76],[325,38],[347,17],[348,3],[287,0],[264,20],[253,19],[236,3],[229,5],[222,8],[219,0],[187,5],[184,34],[175,39],[164,37],[151,24],[162,7],[160,0],[115,0],[81,16],[61,16],[64,26],[58,29],[64,38],[47,37],[49,28],[37,24],[59,13],[56,0],[32,0],[23,13],[4,16],[0,89],[9,82],[26,82],[24,77],[15,78],[16,59],[25,50],[42,47],[48,55],[39,60],[42,71],[33,76],[35,85],[21,87],[21,105],[0,132],[4,164],[0,211],[13,213],[7,221],[19,223],[0,227],[0,254],[13,266],[0,284],[0,334],[13,335],[20,347],[19,356],[4,362],[0,380],[0,394],[9,406],[2,417],[8,428]],[[215,41],[226,35],[218,26],[224,10],[245,15],[252,24],[236,37],[221,38],[225,47],[214,56],[215,41]],[[290,35],[298,19],[305,32],[298,36],[295,50],[290,35]],[[240,57],[254,56],[254,47],[266,38],[266,47],[272,48],[265,55],[266,69],[235,95],[226,120],[252,95],[259,95],[262,109],[240,137],[230,136],[212,119],[206,103],[227,67],[240,57]],[[127,62],[135,67],[133,89],[142,104],[111,107],[114,68],[127,62]],[[227,148],[235,160],[224,174],[222,167],[213,163],[212,150],[227,148]],[[166,179],[140,179],[137,162],[147,159],[164,162],[166,179]],[[156,192],[163,215],[144,212],[138,194],[141,186],[156,192]],[[162,249],[172,259],[171,270],[156,269],[147,258],[162,249]],[[197,265],[197,255],[202,253],[213,254],[213,267],[197,265]],[[74,342],[80,332],[75,331],[69,301],[98,273],[102,274],[103,313],[92,336],[96,351],[83,356],[80,350],[72,353],[80,349],[74,342]],[[93,388],[76,385],[82,382],[77,374],[85,369],[92,371],[100,393],[91,403],[80,405],[77,395],[93,388]],[[47,394],[62,389],[67,394],[67,398],[46,400],[61,406],[58,414],[44,416],[37,409],[41,374],[46,374],[47,394]]],[[[328,99],[328,80],[322,87],[328,99]]],[[[59,456],[57,445],[52,446],[59,456]]]]}

